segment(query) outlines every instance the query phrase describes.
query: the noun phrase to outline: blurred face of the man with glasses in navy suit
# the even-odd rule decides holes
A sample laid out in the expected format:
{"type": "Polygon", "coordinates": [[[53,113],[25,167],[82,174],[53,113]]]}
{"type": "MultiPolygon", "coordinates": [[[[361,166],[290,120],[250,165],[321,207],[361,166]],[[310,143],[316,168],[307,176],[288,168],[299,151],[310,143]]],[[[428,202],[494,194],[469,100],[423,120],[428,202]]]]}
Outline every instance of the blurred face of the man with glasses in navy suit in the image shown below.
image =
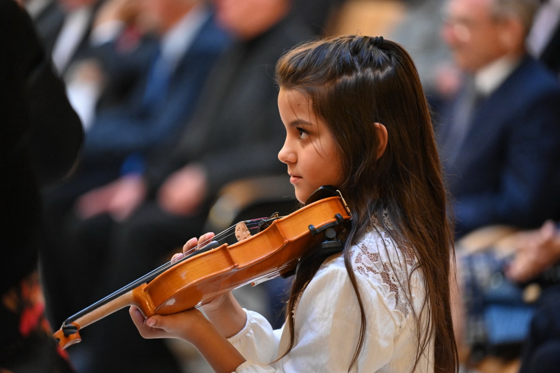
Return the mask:
{"type": "Polygon", "coordinates": [[[493,13],[493,0],[450,0],[442,35],[456,64],[474,73],[508,53],[506,23],[493,13]]]}

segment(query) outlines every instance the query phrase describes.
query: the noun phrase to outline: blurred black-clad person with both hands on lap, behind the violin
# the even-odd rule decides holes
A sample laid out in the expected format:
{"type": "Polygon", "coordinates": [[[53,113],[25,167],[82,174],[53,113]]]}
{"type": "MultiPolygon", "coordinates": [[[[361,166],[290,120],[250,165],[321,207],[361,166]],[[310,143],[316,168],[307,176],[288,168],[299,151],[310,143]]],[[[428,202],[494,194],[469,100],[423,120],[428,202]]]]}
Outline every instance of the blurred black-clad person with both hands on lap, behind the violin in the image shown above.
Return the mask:
{"type": "MultiPolygon", "coordinates": [[[[193,116],[175,135],[177,142],[146,154],[143,170],[115,176],[108,185],[85,193],[77,201],[76,215],[64,217],[59,238],[66,242],[57,245],[56,254],[63,266],[81,268],[79,276],[72,273],[67,281],[96,285],[82,308],[153,270],[199,235],[226,183],[285,172],[275,150],[284,133],[274,65],[285,50],[314,34],[290,12],[290,0],[213,3],[218,23],[237,41],[209,75],[193,116]]],[[[85,151],[87,156],[87,143],[85,151]]],[[[142,361],[147,354],[138,346],[153,343],[138,335],[126,310],[88,329],[90,342],[82,334],[82,344],[92,347],[91,371],[129,370],[131,361],[142,361]]],[[[145,362],[134,367],[146,369],[153,367],[145,362]]]]}

